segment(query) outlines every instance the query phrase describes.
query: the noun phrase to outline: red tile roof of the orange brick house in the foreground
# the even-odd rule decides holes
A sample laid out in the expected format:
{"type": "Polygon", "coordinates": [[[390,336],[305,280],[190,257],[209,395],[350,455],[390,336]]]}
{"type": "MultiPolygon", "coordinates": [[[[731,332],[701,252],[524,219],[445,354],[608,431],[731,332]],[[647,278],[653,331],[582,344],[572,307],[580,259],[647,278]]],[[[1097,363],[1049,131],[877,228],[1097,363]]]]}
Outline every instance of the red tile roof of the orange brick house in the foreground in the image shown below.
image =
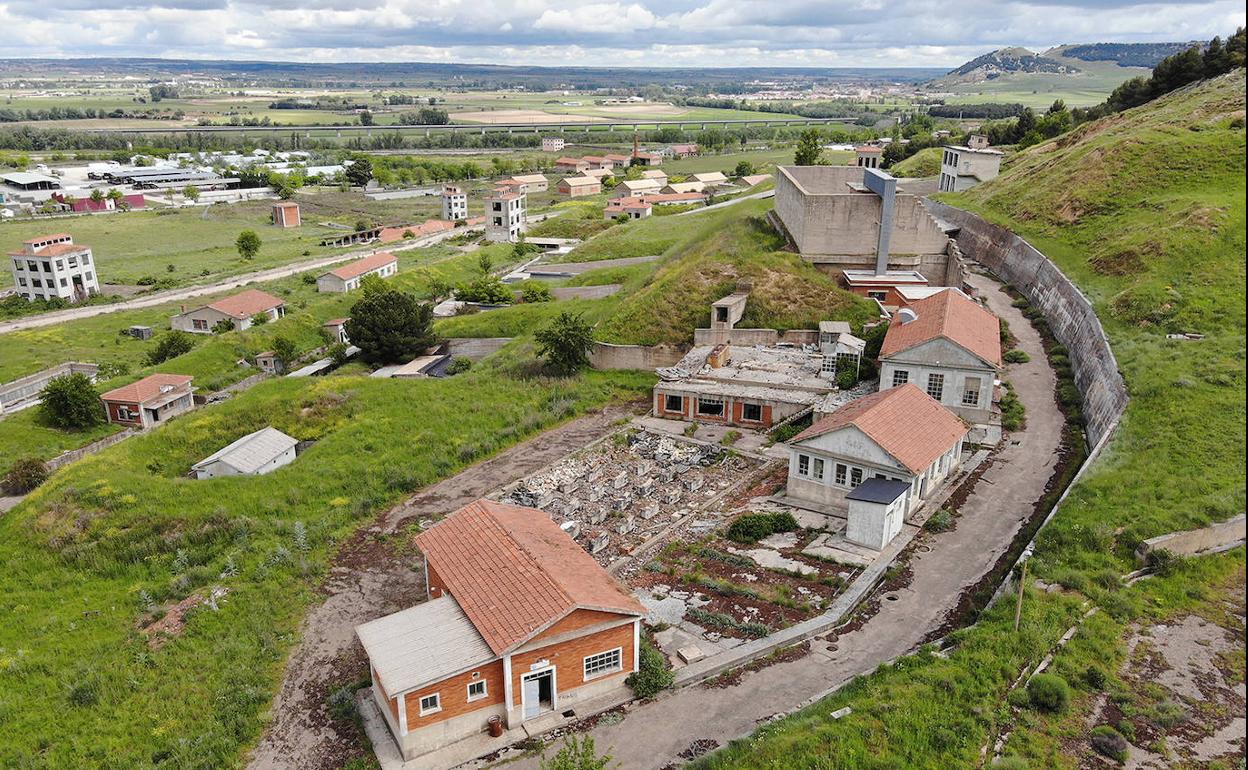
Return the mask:
{"type": "Polygon", "coordinates": [[[416,537],[495,654],[574,609],[645,608],[542,510],[480,499],[416,537]]]}

